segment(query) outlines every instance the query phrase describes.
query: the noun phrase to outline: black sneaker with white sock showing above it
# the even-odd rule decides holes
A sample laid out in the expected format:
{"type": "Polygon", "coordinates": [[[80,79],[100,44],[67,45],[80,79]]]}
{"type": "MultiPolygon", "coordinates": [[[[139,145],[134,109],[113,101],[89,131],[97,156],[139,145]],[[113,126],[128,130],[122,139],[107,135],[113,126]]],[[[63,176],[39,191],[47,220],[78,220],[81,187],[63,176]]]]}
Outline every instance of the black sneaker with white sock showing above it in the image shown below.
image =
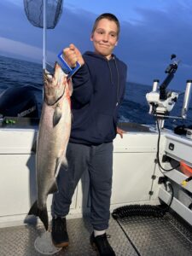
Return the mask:
{"type": "Polygon", "coordinates": [[[93,232],[90,236],[90,244],[96,249],[99,256],[115,256],[113,248],[108,242],[106,233],[95,237],[93,232]]]}

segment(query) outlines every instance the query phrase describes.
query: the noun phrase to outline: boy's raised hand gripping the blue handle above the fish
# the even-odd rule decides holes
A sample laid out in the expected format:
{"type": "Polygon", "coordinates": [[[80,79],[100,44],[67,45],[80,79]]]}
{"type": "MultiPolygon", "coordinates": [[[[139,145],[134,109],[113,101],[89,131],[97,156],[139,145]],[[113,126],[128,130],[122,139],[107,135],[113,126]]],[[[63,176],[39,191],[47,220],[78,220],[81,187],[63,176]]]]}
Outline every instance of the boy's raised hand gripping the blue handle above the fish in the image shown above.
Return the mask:
{"type": "Polygon", "coordinates": [[[74,44],[70,44],[69,47],[63,49],[63,56],[65,61],[70,67],[76,67],[76,62],[79,61],[79,64],[84,65],[84,59],[77,47],[74,44]]]}

